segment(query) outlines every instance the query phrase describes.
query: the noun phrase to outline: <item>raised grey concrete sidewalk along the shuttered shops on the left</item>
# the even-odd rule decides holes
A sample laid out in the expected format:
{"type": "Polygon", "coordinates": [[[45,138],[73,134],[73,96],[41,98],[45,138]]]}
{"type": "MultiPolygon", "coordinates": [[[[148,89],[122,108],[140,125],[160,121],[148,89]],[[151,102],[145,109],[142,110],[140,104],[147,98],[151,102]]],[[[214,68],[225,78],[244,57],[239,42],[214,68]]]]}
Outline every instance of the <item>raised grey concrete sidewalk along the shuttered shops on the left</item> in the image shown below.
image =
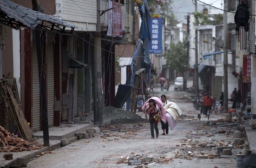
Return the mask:
{"type": "MultiPolygon", "coordinates": [[[[58,127],[49,128],[49,139],[50,139],[50,148],[45,147],[40,150],[33,151],[23,151],[23,152],[0,152],[0,165],[5,164],[5,168],[9,168],[11,165],[17,164],[17,158],[25,157],[27,160],[33,159],[36,155],[40,155],[42,152],[52,151],[56,148],[61,147],[60,140],[68,139],[69,142],[73,142],[78,140],[75,136],[75,132],[85,132],[89,129],[93,123],[84,124],[84,123],[76,123],[76,124],[61,124],[58,127]],[[12,160],[5,160],[3,156],[5,154],[13,154],[12,160]]],[[[43,144],[43,131],[34,132],[33,135],[37,138],[37,142],[39,144],[43,144]]]]}

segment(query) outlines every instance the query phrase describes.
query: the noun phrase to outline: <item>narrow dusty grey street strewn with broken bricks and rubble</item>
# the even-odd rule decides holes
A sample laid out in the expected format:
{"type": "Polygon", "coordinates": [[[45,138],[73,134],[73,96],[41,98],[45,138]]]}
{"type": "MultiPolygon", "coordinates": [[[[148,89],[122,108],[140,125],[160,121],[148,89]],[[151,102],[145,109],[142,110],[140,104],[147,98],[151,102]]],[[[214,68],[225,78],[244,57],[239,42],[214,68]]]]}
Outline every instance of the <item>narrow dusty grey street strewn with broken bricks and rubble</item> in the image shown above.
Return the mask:
{"type": "MultiPolygon", "coordinates": [[[[187,99],[181,99],[190,93],[174,91],[174,85],[171,85],[169,91],[160,91],[160,88],[156,88],[154,96],[160,97],[161,94],[166,94],[169,101],[175,102],[181,108],[182,116],[187,115],[191,118],[178,119],[177,126],[173,131],[169,131],[168,135],[161,135],[160,123],[158,139],[150,139],[148,122],[117,125],[116,128],[123,128],[123,131],[108,131],[109,136],[104,138],[101,132],[95,137],[75,141],[50,154],[33,159],[27,167],[133,168],[135,166],[128,166],[126,159],[132,156],[145,158],[148,167],[156,168],[236,167],[235,158],[221,158],[217,155],[218,146],[228,146],[233,141],[234,128],[207,124],[207,118],[203,116],[199,121],[197,114],[200,111],[194,109],[193,104],[187,99]]],[[[225,114],[210,116],[213,123],[214,120],[221,118],[224,119],[225,114]]],[[[233,155],[240,151],[241,146],[233,146],[233,155]]],[[[147,165],[142,163],[140,166],[146,168],[147,165]]]]}

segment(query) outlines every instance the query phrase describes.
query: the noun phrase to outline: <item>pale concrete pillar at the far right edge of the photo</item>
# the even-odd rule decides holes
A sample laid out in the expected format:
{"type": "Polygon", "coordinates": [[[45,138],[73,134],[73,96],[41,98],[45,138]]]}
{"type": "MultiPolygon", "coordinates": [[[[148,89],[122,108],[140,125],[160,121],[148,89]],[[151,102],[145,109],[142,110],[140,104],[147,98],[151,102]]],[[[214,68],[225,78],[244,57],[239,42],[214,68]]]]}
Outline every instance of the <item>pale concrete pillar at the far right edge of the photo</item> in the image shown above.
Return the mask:
{"type": "MultiPolygon", "coordinates": [[[[256,56],[251,58],[251,102],[256,102],[256,56]]],[[[251,103],[252,129],[256,129],[256,105],[251,103]]]]}

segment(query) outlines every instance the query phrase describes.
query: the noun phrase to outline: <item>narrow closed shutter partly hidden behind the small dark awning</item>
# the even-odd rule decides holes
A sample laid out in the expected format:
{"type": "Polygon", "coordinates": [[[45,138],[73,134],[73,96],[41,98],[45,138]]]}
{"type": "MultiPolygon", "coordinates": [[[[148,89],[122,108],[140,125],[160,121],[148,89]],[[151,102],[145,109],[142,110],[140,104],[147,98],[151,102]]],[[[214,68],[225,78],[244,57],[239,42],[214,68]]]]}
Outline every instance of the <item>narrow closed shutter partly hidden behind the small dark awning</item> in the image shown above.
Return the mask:
{"type": "MultiPolygon", "coordinates": [[[[78,59],[78,42],[75,41],[74,58],[78,59]]],[[[74,116],[78,116],[78,69],[74,68],[74,116]]]]}

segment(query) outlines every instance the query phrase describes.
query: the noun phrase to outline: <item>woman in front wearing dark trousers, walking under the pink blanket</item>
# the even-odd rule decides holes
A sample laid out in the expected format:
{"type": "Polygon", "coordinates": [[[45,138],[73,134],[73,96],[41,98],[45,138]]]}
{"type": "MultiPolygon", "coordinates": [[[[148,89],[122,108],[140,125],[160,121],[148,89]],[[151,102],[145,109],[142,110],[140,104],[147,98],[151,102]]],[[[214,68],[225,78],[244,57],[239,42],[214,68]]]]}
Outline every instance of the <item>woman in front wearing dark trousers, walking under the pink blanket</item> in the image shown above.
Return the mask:
{"type": "Polygon", "coordinates": [[[154,128],[156,131],[156,137],[158,137],[159,131],[158,131],[158,120],[154,119],[154,116],[156,114],[160,114],[159,107],[156,106],[154,99],[149,99],[149,109],[148,109],[148,114],[149,114],[149,123],[150,123],[150,131],[151,131],[151,139],[154,139],[154,128]]]}

